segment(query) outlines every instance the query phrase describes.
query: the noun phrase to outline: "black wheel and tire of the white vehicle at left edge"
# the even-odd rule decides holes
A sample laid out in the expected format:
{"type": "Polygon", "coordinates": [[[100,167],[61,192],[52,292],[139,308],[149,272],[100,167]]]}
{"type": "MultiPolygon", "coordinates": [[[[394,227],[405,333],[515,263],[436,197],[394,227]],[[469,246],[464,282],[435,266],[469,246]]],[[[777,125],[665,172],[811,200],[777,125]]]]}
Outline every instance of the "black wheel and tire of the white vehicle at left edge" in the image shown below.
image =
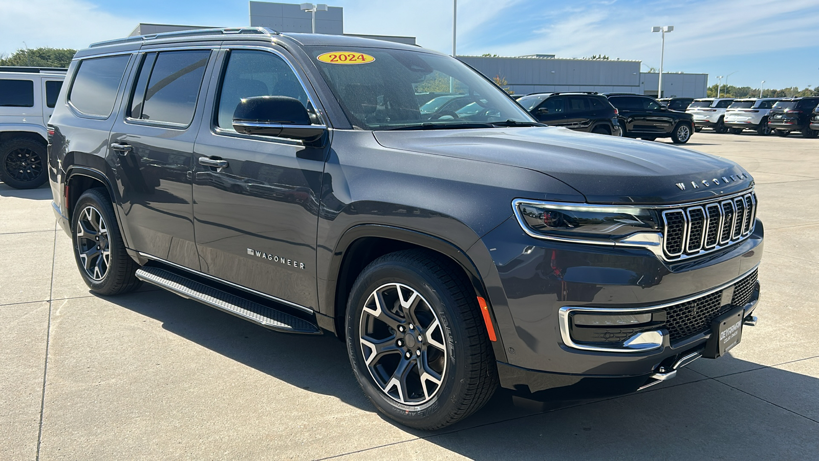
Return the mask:
{"type": "Polygon", "coordinates": [[[34,189],[48,180],[46,146],[34,139],[0,144],[0,179],[15,189],[34,189]]]}

